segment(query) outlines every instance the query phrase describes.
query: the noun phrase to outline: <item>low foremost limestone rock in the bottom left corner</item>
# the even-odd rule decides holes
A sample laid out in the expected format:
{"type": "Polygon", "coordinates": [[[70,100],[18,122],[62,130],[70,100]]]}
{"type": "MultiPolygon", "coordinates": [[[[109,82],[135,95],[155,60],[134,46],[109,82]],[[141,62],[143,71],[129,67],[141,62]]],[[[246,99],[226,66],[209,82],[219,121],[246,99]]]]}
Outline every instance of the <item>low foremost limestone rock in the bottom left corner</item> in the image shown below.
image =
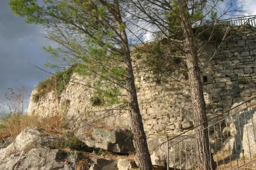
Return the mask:
{"type": "Polygon", "coordinates": [[[75,169],[75,162],[72,159],[75,159],[75,155],[68,154],[66,151],[39,148],[32,149],[27,153],[20,152],[11,155],[0,163],[0,169],[73,170],[75,169]]]}

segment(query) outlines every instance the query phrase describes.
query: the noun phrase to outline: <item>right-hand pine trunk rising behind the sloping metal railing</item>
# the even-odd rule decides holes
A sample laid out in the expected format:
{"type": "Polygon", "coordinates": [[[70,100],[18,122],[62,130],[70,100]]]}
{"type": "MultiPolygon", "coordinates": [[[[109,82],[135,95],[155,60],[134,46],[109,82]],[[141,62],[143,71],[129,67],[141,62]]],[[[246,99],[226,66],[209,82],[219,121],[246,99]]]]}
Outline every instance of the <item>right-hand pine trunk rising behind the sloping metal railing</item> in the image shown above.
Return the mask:
{"type": "MultiPolygon", "coordinates": [[[[189,21],[187,1],[177,0],[180,8],[180,17],[182,23],[182,30],[184,36],[184,51],[186,53],[186,64],[188,69],[188,78],[190,85],[190,93],[192,106],[194,111],[195,126],[204,123],[207,120],[206,108],[203,95],[203,88],[200,78],[200,69],[197,59],[196,42],[192,26],[189,21]]],[[[208,124],[205,123],[197,128],[197,132],[207,128],[208,124]]],[[[212,155],[209,151],[209,136],[207,129],[198,133],[196,136],[198,143],[198,155],[199,155],[199,169],[215,169],[216,163],[214,162],[212,155]]]]}

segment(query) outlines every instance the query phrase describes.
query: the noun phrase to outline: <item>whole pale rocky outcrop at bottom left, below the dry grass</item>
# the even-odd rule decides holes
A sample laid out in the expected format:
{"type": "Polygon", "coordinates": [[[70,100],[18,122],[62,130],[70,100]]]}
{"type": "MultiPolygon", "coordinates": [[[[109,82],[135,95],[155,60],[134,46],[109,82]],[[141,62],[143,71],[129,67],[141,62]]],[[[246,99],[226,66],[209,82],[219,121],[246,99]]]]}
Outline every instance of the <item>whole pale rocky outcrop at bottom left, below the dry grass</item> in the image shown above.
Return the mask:
{"type": "MultiPolygon", "coordinates": [[[[5,139],[7,140],[7,139],[5,139]]],[[[81,150],[72,152],[63,150],[66,137],[52,135],[37,127],[28,127],[20,133],[14,142],[0,150],[0,169],[29,170],[116,170],[134,167],[125,156],[119,161],[115,155],[99,156],[81,150]]]]}

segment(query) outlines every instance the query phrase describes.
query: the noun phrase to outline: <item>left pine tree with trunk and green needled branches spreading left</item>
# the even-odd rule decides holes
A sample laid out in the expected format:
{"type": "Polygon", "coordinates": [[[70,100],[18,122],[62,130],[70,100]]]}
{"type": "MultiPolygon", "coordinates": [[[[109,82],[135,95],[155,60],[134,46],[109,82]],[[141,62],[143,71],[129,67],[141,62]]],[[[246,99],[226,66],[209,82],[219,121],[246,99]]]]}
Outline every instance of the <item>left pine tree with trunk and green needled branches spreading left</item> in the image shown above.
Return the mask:
{"type": "MultiPolygon", "coordinates": [[[[124,5],[118,0],[11,0],[13,13],[27,23],[43,25],[46,38],[59,45],[44,47],[56,59],[55,64],[79,63],[76,72],[95,80],[95,92],[117,102],[119,88],[127,92],[134,144],[140,169],[153,169],[138,105],[129,37],[123,21],[124,5]]],[[[90,84],[88,84],[90,86],[90,84]]]]}

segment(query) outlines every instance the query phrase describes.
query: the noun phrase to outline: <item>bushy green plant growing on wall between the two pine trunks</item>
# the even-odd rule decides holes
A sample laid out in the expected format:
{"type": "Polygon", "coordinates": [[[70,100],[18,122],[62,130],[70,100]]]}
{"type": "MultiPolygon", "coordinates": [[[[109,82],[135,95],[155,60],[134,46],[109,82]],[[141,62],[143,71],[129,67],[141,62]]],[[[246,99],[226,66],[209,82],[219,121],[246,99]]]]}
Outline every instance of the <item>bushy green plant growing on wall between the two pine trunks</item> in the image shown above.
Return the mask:
{"type": "Polygon", "coordinates": [[[133,51],[133,55],[136,60],[142,60],[140,67],[147,71],[152,71],[156,82],[160,83],[163,77],[174,74],[174,71],[184,75],[183,72],[186,72],[186,66],[182,58],[183,54],[167,38],[146,43],[145,45],[147,47],[142,45],[140,48],[136,48],[133,51]],[[148,46],[151,47],[151,51],[147,50],[148,46]]]}

